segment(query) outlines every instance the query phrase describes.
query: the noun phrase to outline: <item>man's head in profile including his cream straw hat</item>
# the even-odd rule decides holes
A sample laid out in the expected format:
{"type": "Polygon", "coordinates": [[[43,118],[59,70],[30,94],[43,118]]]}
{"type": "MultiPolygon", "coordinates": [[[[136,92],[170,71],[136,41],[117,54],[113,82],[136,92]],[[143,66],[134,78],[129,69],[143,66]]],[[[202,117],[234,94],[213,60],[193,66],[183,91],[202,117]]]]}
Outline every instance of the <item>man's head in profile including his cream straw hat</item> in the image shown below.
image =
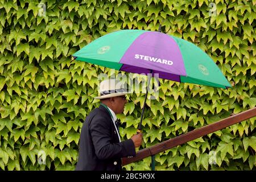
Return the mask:
{"type": "Polygon", "coordinates": [[[127,103],[126,94],[127,92],[126,89],[123,88],[122,82],[110,79],[101,82],[100,96],[96,97],[96,99],[100,99],[101,102],[112,109],[115,114],[121,114],[127,103]]]}

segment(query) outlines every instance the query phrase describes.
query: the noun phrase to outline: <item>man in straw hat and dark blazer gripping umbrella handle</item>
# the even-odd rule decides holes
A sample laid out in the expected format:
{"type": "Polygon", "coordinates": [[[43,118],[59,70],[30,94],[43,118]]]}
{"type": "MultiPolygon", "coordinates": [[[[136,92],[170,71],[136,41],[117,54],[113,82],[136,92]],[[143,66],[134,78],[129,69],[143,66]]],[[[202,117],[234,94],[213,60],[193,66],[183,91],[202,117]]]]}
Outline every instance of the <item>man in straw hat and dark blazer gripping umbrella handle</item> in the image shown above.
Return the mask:
{"type": "Polygon", "coordinates": [[[85,119],[80,135],[79,159],[76,170],[121,171],[123,157],[136,155],[142,144],[142,134],[121,142],[117,117],[127,103],[121,82],[104,80],[100,84],[100,107],[85,119]]]}

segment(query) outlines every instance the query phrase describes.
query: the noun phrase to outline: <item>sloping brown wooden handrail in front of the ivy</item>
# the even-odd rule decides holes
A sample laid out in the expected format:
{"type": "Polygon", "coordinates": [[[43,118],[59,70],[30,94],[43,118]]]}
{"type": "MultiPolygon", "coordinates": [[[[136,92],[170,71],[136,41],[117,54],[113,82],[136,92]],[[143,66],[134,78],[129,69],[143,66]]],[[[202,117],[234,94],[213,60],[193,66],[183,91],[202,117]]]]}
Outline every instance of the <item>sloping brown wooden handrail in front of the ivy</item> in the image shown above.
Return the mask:
{"type": "Polygon", "coordinates": [[[204,135],[208,135],[210,133],[224,129],[225,127],[234,125],[241,121],[245,121],[246,119],[250,119],[255,116],[256,116],[256,107],[254,107],[253,109],[243,111],[236,115],[232,115],[231,117],[222,119],[221,121],[218,121],[218,122],[214,122],[210,125],[201,127],[199,129],[189,131],[186,134],[166,140],[164,142],[156,144],[155,146],[144,148],[143,150],[138,151],[134,158],[122,158],[122,165],[125,166],[127,164],[137,162],[138,160],[147,158],[148,156],[158,154],[159,152],[163,152],[170,148],[179,146],[180,144],[187,143],[196,138],[203,137],[204,135]]]}

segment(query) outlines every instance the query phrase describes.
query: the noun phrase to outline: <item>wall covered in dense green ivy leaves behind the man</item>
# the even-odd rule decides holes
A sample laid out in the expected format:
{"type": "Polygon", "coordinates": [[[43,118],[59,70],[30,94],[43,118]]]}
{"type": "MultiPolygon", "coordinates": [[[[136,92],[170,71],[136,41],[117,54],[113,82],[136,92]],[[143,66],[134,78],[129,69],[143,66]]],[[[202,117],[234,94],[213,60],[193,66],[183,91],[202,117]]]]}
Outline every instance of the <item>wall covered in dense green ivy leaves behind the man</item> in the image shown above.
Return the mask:
{"type": "MultiPolygon", "coordinates": [[[[255,5],[255,0],[1,0],[0,169],[75,169],[82,122],[99,105],[97,76],[111,70],[71,55],[117,30],[158,31],[161,24],[162,32],[207,52],[233,85],[224,90],[160,79],[159,97],[146,102],[141,149],[255,107],[255,5]]],[[[143,92],[131,94],[118,115],[122,139],[136,133],[143,99],[143,92]]],[[[161,152],[155,168],[255,170],[255,126],[254,117],[161,152]]],[[[123,169],[150,170],[150,162],[123,169]]]]}

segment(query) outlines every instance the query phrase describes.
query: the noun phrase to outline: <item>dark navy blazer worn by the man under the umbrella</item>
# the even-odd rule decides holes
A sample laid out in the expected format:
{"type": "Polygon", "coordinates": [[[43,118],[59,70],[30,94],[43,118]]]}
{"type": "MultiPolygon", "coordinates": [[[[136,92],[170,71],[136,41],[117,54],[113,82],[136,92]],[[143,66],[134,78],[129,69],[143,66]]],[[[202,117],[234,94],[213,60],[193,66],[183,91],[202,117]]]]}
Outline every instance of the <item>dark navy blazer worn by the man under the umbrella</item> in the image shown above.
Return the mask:
{"type": "Polygon", "coordinates": [[[112,118],[103,106],[86,117],[79,142],[77,171],[121,171],[121,158],[136,155],[133,140],[119,142],[112,118]]]}

